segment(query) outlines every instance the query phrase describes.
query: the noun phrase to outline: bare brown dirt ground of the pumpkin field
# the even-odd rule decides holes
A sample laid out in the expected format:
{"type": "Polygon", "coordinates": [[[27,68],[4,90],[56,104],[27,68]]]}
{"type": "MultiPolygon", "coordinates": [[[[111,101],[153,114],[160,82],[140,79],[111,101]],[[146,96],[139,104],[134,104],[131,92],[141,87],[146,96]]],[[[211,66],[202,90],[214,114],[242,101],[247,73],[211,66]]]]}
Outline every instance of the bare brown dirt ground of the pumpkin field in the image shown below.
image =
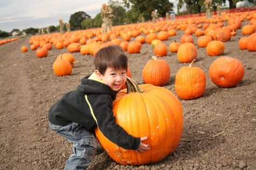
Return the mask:
{"type": "MultiPolygon", "coordinates": [[[[245,22],[244,22],[245,23],[245,22]]],[[[183,32],[164,41],[180,40],[183,32]]],[[[256,169],[256,52],[241,51],[241,30],[225,42],[224,55],[239,59],[245,76],[234,88],[215,86],[208,68],[218,56],[207,56],[198,48],[194,66],[206,73],[206,91],[197,100],[181,100],[184,130],[177,149],[164,160],[150,165],[123,166],[106,153],[97,155],[88,169],[256,169]]],[[[194,37],[195,43],[197,37],[194,37]]],[[[93,57],[73,53],[79,63],[71,76],[57,77],[52,63],[66,49],[53,48],[46,58],[36,51],[21,53],[29,39],[19,39],[0,46],[0,169],[63,169],[72,152],[71,144],[48,128],[48,110],[62,95],[75,89],[82,77],[93,72],[93,57]]],[[[126,53],[127,54],[127,53],[126,53]]],[[[127,54],[132,77],[143,83],[142,69],[153,55],[144,44],[139,54],[127,54]]],[[[179,63],[177,54],[163,57],[171,68],[165,88],[176,94],[174,78],[179,63]]]]}

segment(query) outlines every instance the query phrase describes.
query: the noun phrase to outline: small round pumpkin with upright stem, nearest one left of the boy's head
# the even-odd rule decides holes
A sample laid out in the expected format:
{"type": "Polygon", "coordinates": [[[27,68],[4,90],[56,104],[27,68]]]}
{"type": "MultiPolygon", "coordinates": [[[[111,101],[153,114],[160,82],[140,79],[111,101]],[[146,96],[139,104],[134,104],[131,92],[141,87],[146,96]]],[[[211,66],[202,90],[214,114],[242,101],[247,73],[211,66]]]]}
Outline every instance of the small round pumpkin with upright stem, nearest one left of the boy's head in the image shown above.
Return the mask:
{"type": "Polygon", "coordinates": [[[62,54],[60,54],[60,59],[55,60],[52,65],[53,73],[57,76],[71,75],[72,66],[68,60],[62,59],[62,54]]]}

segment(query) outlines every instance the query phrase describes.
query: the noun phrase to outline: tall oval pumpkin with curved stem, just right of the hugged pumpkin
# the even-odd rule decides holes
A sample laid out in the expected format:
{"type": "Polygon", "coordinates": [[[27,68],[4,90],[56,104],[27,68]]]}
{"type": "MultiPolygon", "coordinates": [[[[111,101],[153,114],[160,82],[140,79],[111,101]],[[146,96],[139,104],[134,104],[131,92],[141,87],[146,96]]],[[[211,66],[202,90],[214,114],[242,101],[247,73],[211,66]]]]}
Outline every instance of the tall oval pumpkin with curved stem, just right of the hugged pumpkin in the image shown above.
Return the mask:
{"type": "Polygon", "coordinates": [[[188,67],[181,67],[175,78],[175,91],[184,100],[196,99],[203,96],[206,87],[206,76],[203,69],[192,67],[193,60],[188,67]]]}

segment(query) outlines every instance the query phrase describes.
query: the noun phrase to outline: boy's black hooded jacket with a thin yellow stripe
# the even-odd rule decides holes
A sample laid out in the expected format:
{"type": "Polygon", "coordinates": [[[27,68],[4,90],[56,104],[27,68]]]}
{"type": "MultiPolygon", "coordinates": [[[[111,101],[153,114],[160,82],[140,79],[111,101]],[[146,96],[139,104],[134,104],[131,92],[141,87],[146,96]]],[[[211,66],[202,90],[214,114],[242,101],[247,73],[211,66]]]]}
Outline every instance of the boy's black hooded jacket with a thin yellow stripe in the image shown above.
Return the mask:
{"type": "Polygon", "coordinates": [[[65,94],[52,105],[48,113],[49,122],[55,125],[76,122],[93,133],[98,126],[113,143],[136,150],[140,138],[131,136],[115,122],[112,111],[115,98],[116,93],[109,86],[85,77],[76,90],[65,94]]]}

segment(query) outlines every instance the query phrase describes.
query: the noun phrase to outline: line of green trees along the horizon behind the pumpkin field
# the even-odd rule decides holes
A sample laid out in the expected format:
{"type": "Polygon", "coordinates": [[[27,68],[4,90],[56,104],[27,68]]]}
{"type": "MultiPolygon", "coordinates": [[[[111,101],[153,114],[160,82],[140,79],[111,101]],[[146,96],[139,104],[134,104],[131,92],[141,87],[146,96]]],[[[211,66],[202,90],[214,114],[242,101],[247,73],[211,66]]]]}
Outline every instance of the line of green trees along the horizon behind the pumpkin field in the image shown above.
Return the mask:
{"type": "MultiPolygon", "coordinates": [[[[177,15],[190,14],[190,13],[200,13],[205,12],[204,6],[205,0],[177,0],[177,15]],[[184,10],[185,6],[185,10],[184,10]],[[181,9],[183,9],[181,11],[181,9]]],[[[221,5],[224,8],[226,0],[211,0],[212,1],[212,10],[215,11],[218,5],[221,5]]],[[[235,8],[235,4],[240,0],[228,0],[230,9],[235,8]]],[[[254,3],[253,0],[248,0],[248,2],[254,3]]],[[[155,11],[157,17],[165,17],[166,13],[173,12],[173,3],[169,0],[123,0],[123,3],[118,1],[109,0],[108,5],[112,8],[112,14],[115,16],[112,18],[112,25],[123,25],[131,24],[138,22],[145,22],[152,19],[151,12],[155,11]]],[[[95,27],[100,27],[102,25],[102,17],[98,13],[94,18],[88,15],[84,11],[75,12],[70,16],[69,19],[70,30],[83,30],[91,29],[95,27]]],[[[26,34],[37,34],[43,30],[43,33],[46,33],[46,29],[35,29],[28,28],[23,31],[18,29],[12,30],[10,33],[0,30],[0,37],[11,36],[11,33],[16,31],[18,36],[25,32],[26,34]]],[[[49,32],[59,31],[58,26],[49,26],[49,32]]],[[[66,24],[64,24],[64,31],[66,31],[66,24]]]]}

